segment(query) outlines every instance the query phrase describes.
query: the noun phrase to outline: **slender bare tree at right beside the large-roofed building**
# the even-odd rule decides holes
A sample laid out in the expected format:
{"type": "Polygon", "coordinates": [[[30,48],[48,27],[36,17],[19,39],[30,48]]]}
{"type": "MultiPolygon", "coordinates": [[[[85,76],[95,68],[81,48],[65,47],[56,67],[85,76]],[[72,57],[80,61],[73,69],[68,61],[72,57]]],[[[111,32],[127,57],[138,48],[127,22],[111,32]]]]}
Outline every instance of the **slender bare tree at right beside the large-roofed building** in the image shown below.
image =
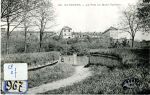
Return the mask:
{"type": "Polygon", "coordinates": [[[127,32],[131,36],[132,47],[134,46],[134,39],[137,31],[140,29],[140,20],[137,18],[137,10],[135,6],[129,6],[123,11],[121,30],[127,32]]]}

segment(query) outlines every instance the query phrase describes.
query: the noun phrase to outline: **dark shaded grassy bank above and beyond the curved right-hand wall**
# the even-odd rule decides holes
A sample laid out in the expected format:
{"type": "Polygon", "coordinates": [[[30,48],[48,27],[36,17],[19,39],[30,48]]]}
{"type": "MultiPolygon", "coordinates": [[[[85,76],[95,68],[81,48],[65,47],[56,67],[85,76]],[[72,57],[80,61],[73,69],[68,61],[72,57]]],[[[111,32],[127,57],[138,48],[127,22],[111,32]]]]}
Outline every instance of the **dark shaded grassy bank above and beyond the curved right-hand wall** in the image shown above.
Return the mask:
{"type": "Polygon", "coordinates": [[[141,65],[146,67],[149,66],[150,49],[97,49],[91,50],[91,52],[119,58],[121,59],[121,64],[119,65],[123,68],[137,67],[141,65]]]}

